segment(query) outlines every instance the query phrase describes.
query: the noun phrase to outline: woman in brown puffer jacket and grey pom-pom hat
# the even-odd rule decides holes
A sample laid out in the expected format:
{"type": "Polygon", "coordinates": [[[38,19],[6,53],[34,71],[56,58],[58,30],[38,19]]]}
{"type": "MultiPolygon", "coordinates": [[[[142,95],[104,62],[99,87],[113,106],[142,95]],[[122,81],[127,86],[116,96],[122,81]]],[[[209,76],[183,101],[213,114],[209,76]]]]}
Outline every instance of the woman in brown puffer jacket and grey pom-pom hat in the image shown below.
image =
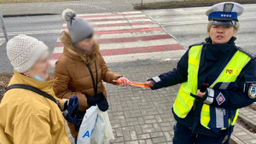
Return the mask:
{"type": "MultiPolygon", "coordinates": [[[[127,78],[108,70],[99,44],[93,38],[92,27],[82,18],[76,17],[72,9],[65,9],[62,18],[67,21],[68,31],[61,35],[64,51],[55,65],[55,95],[59,98],[79,98],[79,115],[83,119],[85,111],[93,105],[100,110],[108,110],[107,93],[102,84],[122,80],[122,85],[130,85],[127,78]]],[[[77,138],[79,124],[68,123],[73,137],[77,138]]]]}

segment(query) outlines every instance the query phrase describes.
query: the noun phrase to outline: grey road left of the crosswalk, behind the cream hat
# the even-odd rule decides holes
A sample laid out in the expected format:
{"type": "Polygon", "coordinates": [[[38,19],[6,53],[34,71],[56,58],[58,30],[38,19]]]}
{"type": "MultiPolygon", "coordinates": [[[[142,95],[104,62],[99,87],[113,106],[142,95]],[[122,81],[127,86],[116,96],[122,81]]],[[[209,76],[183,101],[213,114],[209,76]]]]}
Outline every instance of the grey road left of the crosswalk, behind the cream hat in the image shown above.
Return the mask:
{"type": "MultiPolygon", "coordinates": [[[[26,34],[36,37],[49,46],[50,52],[55,47],[55,42],[61,31],[63,20],[60,14],[44,15],[44,16],[26,16],[5,18],[6,29],[9,38],[15,37],[18,34],[26,34]]],[[[0,32],[0,41],[3,40],[3,32],[0,32]]],[[[0,43],[1,44],[1,43],[0,43]]],[[[6,55],[6,43],[0,46],[0,73],[13,72],[9,60],[6,55]]]]}

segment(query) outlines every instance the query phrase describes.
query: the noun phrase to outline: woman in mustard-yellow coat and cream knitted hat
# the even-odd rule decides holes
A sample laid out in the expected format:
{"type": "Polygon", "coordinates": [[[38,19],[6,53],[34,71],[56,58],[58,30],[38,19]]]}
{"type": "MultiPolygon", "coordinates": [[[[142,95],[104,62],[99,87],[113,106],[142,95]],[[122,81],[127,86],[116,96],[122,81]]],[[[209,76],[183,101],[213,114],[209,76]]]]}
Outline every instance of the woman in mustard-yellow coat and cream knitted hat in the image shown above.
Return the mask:
{"type": "Polygon", "coordinates": [[[59,108],[67,100],[56,101],[54,81],[48,80],[48,47],[34,37],[19,35],[9,40],[6,49],[15,74],[0,104],[0,143],[70,144],[59,108]]]}

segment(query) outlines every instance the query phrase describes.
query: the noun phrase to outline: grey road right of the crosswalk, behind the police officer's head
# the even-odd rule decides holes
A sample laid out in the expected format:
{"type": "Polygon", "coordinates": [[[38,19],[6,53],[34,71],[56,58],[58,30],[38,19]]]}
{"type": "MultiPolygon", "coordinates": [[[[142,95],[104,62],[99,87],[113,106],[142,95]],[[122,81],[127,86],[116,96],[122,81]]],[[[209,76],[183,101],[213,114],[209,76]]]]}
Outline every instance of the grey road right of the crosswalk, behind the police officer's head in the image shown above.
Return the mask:
{"type": "MultiPolygon", "coordinates": [[[[240,30],[236,34],[236,45],[256,54],[256,4],[243,6],[245,12],[239,17],[240,30]]],[[[155,9],[144,10],[143,13],[156,20],[184,49],[188,49],[189,45],[203,42],[207,37],[207,8],[155,9]]]]}

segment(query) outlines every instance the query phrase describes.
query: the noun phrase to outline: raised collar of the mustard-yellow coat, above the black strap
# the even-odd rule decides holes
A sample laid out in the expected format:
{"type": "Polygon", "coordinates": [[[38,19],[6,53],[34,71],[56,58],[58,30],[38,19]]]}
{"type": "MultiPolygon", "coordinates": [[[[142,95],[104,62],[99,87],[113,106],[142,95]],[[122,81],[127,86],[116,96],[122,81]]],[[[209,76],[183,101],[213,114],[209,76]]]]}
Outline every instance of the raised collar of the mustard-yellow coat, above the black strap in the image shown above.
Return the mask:
{"type": "Polygon", "coordinates": [[[15,71],[15,75],[11,79],[9,85],[11,85],[11,84],[26,84],[26,85],[30,85],[32,87],[35,87],[35,88],[38,88],[41,90],[48,91],[49,89],[52,88],[53,83],[54,83],[54,80],[41,82],[41,81],[34,80],[32,78],[26,77],[25,75],[15,71]]]}

